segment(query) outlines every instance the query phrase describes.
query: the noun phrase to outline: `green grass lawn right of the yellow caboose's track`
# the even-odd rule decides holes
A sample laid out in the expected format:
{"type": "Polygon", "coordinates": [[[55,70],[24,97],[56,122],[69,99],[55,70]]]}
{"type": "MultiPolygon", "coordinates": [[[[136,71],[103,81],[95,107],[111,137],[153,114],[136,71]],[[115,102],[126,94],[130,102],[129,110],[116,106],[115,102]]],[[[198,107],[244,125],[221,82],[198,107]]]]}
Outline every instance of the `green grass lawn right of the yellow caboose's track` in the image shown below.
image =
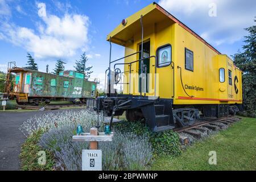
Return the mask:
{"type": "Polygon", "coordinates": [[[256,118],[243,118],[227,130],[194,143],[177,158],[159,157],[151,169],[256,170],[256,118]],[[208,163],[210,151],[216,151],[216,165],[208,163]]]}

